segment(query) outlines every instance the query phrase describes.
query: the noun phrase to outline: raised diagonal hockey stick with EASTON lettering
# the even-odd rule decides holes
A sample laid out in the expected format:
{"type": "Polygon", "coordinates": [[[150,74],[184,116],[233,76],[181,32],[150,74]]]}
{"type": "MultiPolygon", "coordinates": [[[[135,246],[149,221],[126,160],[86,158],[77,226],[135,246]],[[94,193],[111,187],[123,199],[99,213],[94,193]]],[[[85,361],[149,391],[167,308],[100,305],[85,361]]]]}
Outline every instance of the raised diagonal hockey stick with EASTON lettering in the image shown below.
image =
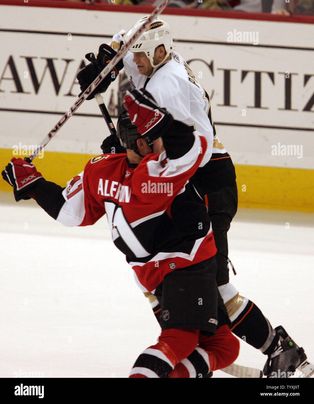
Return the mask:
{"type": "Polygon", "coordinates": [[[47,145],[47,143],[54,137],[54,135],[58,132],[58,130],[67,122],[69,118],[73,115],[73,113],[77,110],[80,105],[86,100],[87,97],[97,88],[97,86],[100,84],[100,82],[111,72],[112,68],[115,67],[115,65],[119,62],[120,59],[122,59],[122,56],[124,53],[126,53],[130,47],[136,42],[140,34],[144,32],[146,29],[147,25],[153,21],[157,15],[162,13],[162,11],[167,7],[168,3],[170,0],[162,0],[160,4],[155,8],[153,13],[147,19],[143,22],[143,24],[134,32],[134,35],[132,38],[124,44],[124,46],[121,47],[121,49],[118,51],[118,53],[113,57],[113,59],[107,64],[107,66],[103,69],[102,72],[95,78],[95,80],[90,84],[84,93],[75,101],[75,103],[67,110],[67,112],[62,116],[62,118],[55,124],[54,128],[48,132],[48,134],[44,137],[42,140],[41,144],[39,147],[37,147],[32,154],[30,154],[28,157],[25,157],[24,160],[28,162],[32,162],[33,159],[38,155],[38,153],[47,145]]]}

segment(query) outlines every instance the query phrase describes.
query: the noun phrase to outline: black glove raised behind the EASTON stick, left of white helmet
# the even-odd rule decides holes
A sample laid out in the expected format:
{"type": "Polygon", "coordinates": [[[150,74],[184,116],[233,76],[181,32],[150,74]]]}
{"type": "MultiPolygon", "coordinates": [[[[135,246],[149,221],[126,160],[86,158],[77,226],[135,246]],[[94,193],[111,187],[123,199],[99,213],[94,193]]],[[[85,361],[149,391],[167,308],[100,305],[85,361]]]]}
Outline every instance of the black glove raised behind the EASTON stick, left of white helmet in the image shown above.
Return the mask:
{"type": "MultiPolygon", "coordinates": [[[[86,59],[88,59],[91,63],[80,70],[76,76],[82,92],[85,91],[90,84],[92,84],[98,74],[103,71],[107,63],[109,63],[116,54],[117,52],[109,45],[102,44],[99,46],[97,58],[94,53],[88,53],[85,55],[86,59]]],[[[97,88],[87,99],[93,99],[97,93],[105,93],[110,83],[115,80],[121,69],[123,69],[122,59],[117,63],[117,65],[115,65],[115,67],[113,67],[111,72],[108,73],[108,75],[103,79],[102,82],[100,82],[97,88]]]]}

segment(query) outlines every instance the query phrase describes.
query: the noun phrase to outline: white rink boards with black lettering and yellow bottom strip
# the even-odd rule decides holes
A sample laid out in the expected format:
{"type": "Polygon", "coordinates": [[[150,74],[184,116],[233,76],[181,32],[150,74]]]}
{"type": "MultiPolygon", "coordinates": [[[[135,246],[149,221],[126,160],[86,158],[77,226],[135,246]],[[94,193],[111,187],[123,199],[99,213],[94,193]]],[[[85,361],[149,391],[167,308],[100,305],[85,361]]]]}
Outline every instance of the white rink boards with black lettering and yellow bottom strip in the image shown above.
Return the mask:
{"type": "MultiPolygon", "coordinates": [[[[39,144],[73,104],[84,55],[147,13],[34,5],[0,5],[2,166],[13,151],[23,154],[26,146],[39,144]]],[[[240,206],[314,212],[312,20],[173,13],[164,18],[173,28],[175,51],[211,96],[218,136],[236,165],[240,206]]],[[[124,81],[120,74],[104,95],[112,116],[124,81]]],[[[101,152],[107,135],[96,102],[85,102],[36,166],[46,179],[65,185],[101,152]]],[[[0,191],[10,188],[1,182],[0,191]]]]}

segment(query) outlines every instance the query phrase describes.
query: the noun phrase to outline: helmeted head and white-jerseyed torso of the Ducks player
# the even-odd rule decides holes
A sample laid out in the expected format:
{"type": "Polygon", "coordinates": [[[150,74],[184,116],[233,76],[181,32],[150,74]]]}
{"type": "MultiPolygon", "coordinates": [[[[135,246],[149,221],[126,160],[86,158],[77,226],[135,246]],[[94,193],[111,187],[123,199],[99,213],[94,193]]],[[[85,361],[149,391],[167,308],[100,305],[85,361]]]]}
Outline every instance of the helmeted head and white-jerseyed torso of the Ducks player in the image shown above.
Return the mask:
{"type": "MultiPolygon", "coordinates": [[[[124,35],[127,41],[134,30],[145,19],[142,18],[124,35]]],[[[121,40],[121,34],[113,40],[121,40]]],[[[211,124],[210,99],[195,78],[182,56],[173,50],[172,30],[168,23],[155,19],[123,59],[131,86],[145,88],[157,103],[164,105],[174,119],[195,129],[211,143],[214,143],[214,128],[211,124]],[[210,119],[210,124],[209,124],[210,119]]],[[[226,153],[219,143],[213,153],[226,153]]],[[[204,162],[211,158],[205,155],[204,162]]]]}

